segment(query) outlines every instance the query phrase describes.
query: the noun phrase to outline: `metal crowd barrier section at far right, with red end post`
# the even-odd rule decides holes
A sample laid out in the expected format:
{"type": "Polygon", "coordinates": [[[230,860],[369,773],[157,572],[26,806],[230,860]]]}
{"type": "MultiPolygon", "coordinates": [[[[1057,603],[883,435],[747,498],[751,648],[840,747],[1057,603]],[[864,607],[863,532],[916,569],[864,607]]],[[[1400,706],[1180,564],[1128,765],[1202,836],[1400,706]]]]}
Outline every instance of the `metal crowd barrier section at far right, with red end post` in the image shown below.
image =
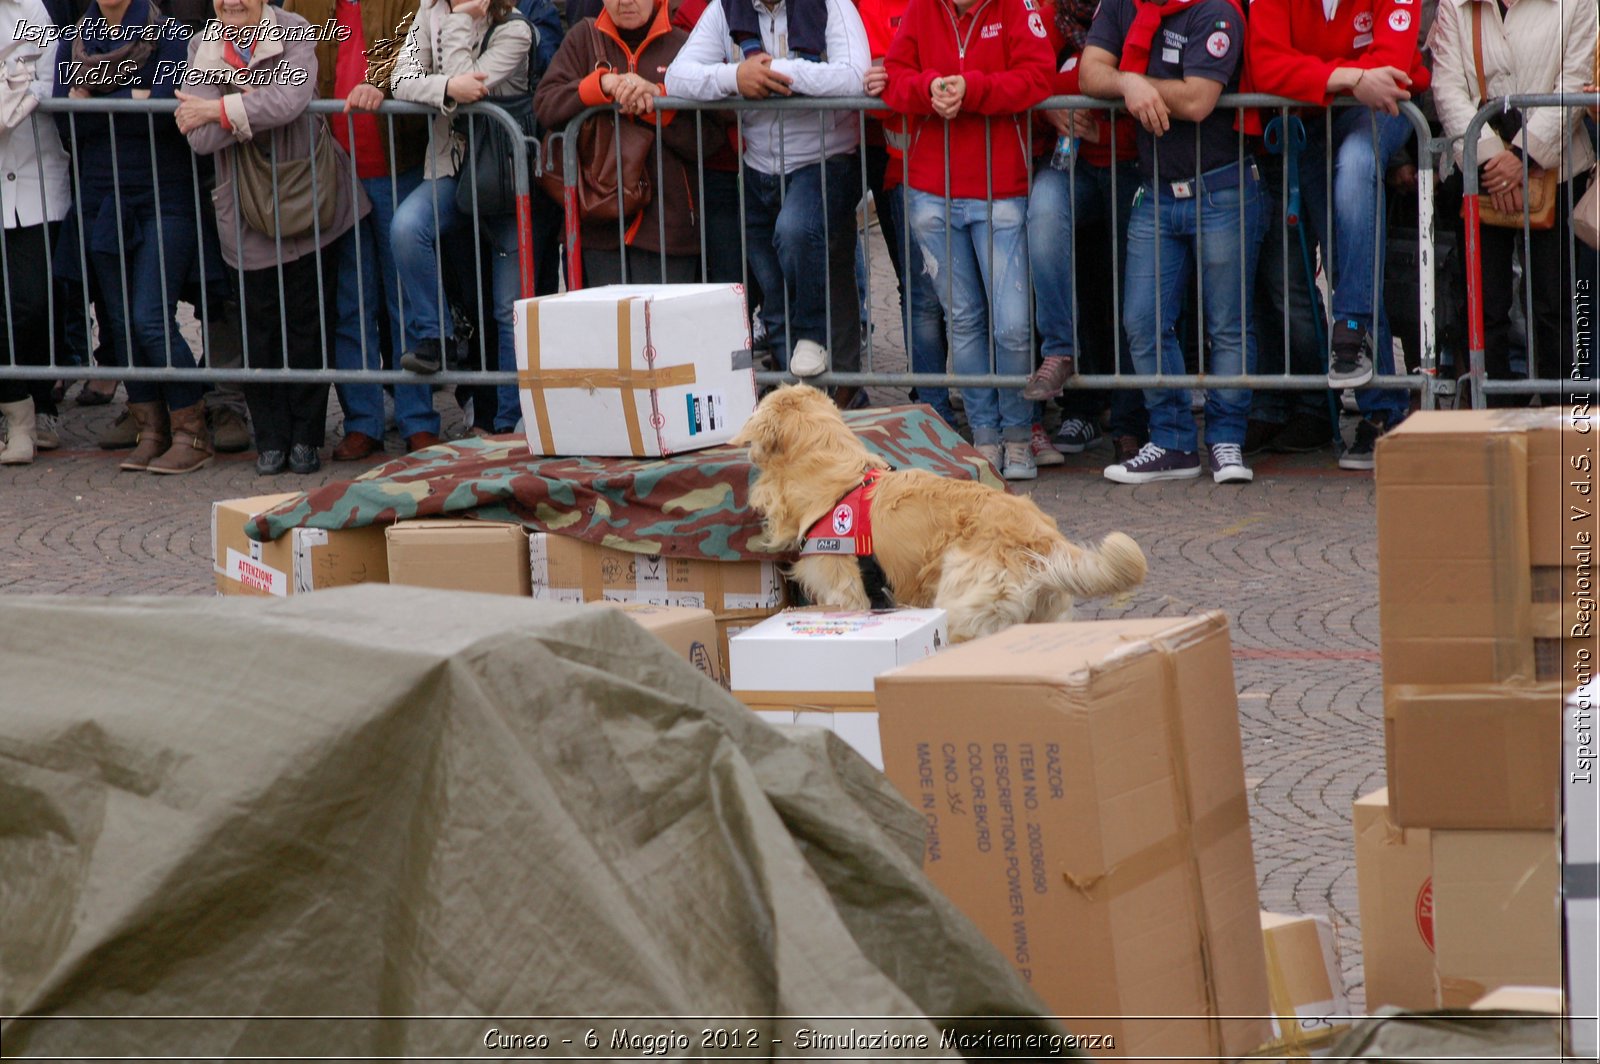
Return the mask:
{"type": "MultiPolygon", "coordinates": [[[[1530,226],[1528,216],[1528,157],[1522,157],[1522,190],[1523,190],[1523,226],[1518,234],[1522,262],[1525,264],[1522,275],[1522,310],[1525,322],[1525,341],[1526,341],[1526,358],[1528,358],[1528,376],[1525,379],[1501,379],[1493,381],[1488,378],[1488,366],[1485,363],[1485,326],[1483,326],[1483,197],[1480,189],[1482,174],[1478,173],[1478,136],[1483,126],[1494,118],[1498,114],[1509,110],[1525,110],[1536,107],[1600,107],[1600,94],[1579,94],[1579,93],[1534,93],[1520,96],[1502,96],[1498,99],[1486,101],[1483,107],[1472,117],[1467,123],[1466,133],[1461,138],[1461,178],[1462,178],[1462,221],[1466,227],[1466,254],[1467,254],[1467,355],[1469,368],[1467,379],[1472,382],[1472,405],[1475,408],[1485,408],[1491,395],[1574,395],[1589,394],[1594,395],[1597,386],[1595,371],[1595,286],[1597,275],[1600,275],[1600,251],[1587,245],[1579,243],[1570,224],[1566,229],[1566,246],[1563,253],[1566,256],[1566,275],[1573,282],[1571,298],[1566,301],[1568,306],[1568,328],[1573,350],[1557,352],[1557,357],[1565,358],[1570,363],[1570,373],[1562,379],[1539,379],[1536,373],[1536,357],[1538,357],[1538,330],[1534,328],[1534,306],[1533,306],[1533,285],[1528,282],[1526,264],[1533,259],[1533,229],[1530,226]]],[[[1566,126],[1563,155],[1571,152],[1574,125],[1566,126]]],[[[1597,144],[1600,149],[1600,144],[1597,144]]],[[[1568,197],[1558,197],[1557,211],[1557,227],[1571,214],[1576,200],[1579,198],[1578,190],[1568,197]]]]}

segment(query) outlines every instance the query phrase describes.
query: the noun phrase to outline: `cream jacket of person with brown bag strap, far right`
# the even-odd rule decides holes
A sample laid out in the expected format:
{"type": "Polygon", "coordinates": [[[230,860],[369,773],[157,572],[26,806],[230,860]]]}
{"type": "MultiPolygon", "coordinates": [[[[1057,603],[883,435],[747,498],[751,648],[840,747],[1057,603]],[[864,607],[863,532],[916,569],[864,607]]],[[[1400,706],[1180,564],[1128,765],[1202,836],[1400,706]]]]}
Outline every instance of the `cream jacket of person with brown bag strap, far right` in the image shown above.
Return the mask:
{"type": "MultiPolygon", "coordinates": [[[[1459,138],[1483,106],[1472,59],[1472,5],[1483,5],[1483,80],[1490,96],[1578,93],[1595,56],[1594,0],[1510,0],[1501,19],[1494,0],[1440,0],[1427,37],[1434,53],[1434,106],[1445,136],[1459,138]]],[[[1512,144],[1533,165],[1570,181],[1595,162],[1579,107],[1531,107],[1512,144]],[[1568,141],[1568,136],[1571,141],[1568,141]],[[1570,149],[1568,149],[1570,144],[1570,149]]],[[[1454,146],[1461,163],[1461,144],[1454,146]]],[[[1478,165],[1506,150],[1490,126],[1478,138],[1478,165]]]]}

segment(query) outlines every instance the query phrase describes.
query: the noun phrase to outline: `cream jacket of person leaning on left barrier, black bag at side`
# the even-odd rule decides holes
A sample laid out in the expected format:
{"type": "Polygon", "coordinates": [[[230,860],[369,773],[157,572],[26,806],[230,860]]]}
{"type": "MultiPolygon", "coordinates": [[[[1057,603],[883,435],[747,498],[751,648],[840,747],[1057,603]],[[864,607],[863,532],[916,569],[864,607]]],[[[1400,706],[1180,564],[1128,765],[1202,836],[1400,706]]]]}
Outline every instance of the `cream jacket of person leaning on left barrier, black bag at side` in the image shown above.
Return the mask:
{"type": "Polygon", "coordinates": [[[533,27],[522,18],[507,19],[494,27],[488,50],[478,54],[488,27],[488,19],[451,11],[446,0],[424,0],[395,59],[389,82],[394,98],[438,107],[422,171],[427,178],[453,176],[464,150],[464,138],[450,128],[456,114],[456,101],[445,93],[450,78],[482,70],[488,102],[528,91],[533,27]]]}

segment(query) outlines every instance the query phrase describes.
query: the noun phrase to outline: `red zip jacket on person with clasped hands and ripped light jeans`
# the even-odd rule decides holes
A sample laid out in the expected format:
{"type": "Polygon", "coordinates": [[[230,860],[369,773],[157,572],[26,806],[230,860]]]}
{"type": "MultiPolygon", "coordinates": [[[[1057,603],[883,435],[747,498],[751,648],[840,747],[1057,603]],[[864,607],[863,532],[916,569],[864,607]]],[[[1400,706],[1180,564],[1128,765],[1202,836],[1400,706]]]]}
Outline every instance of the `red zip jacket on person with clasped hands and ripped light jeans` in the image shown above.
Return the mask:
{"type": "Polygon", "coordinates": [[[950,187],[955,198],[1027,195],[1027,115],[1050,96],[1056,56],[1040,0],[976,0],[957,14],[950,0],[910,0],[885,67],[883,102],[912,115],[910,187],[944,195],[944,122],[930,90],[941,77],[966,78],[962,112],[950,125],[950,187]],[[990,184],[984,117],[992,117],[990,184]]]}

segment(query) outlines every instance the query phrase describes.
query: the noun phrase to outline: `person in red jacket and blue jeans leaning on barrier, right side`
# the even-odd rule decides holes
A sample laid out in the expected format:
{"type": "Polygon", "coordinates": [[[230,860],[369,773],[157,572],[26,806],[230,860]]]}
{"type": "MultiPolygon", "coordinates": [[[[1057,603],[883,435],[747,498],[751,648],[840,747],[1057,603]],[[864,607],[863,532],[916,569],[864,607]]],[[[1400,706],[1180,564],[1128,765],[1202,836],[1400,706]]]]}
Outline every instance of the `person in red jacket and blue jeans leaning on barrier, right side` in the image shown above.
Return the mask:
{"type": "MultiPolygon", "coordinates": [[[[1427,88],[1414,0],[1256,0],[1250,67],[1261,93],[1325,110],[1299,157],[1304,216],[1333,285],[1328,387],[1360,387],[1394,373],[1394,342],[1379,298],[1384,275],[1384,173],[1411,130],[1400,102],[1427,88]],[[1331,107],[1338,96],[1362,106],[1331,107]],[[1330,126],[1331,125],[1331,131],[1330,126]],[[1331,232],[1328,230],[1331,200],[1331,232]]],[[[1371,469],[1378,437],[1406,411],[1395,389],[1357,392],[1362,421],[1339,458],[1371,469]]]]}

